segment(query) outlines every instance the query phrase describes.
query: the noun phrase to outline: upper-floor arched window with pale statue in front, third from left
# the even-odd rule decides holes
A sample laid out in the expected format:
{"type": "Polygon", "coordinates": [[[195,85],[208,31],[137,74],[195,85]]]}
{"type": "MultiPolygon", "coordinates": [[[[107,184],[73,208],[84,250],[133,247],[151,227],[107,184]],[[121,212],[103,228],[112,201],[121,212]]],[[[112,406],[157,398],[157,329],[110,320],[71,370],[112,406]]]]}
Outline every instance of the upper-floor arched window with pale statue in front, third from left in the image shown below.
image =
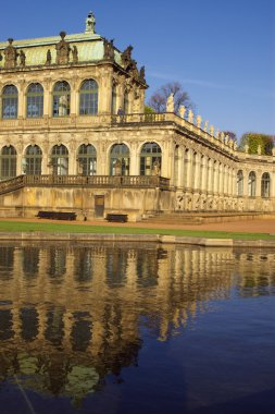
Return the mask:
{"type": "Polygon", "coordinates": [[[67,82],[55,83],[52,99],[53,117],[70,115],[71,88],[67,82]]]}

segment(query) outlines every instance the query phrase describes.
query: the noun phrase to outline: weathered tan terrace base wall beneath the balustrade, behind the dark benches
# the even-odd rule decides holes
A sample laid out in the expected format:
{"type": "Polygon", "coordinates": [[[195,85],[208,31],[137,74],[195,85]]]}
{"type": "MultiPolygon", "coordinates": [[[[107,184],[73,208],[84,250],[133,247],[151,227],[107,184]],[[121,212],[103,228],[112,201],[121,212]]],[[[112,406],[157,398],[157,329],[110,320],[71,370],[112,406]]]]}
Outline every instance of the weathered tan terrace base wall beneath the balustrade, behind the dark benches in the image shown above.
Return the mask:
{"type": "Polygon", "coordinates": [[[77,219],[93,219],[109,212],[128,215],[138,221],[146,211],[170,210],[173,192],[160,188],[95,188],[70,186],[25,186],[0,196],[0,217],[33,218],[39,210],[74,211],[77,219]],[[97,210],[96,198],[102,197],[97,210]]]}

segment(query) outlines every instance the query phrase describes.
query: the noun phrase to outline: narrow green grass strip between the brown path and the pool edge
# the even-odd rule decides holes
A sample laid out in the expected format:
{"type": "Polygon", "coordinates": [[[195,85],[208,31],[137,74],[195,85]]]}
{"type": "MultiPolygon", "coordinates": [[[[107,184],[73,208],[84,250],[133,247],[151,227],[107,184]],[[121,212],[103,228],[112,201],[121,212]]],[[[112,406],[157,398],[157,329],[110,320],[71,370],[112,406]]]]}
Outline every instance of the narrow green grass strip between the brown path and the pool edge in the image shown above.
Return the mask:
{"type": "Polygon", "coordinates": [[[130,227],[105,227],[88,224],[66,224],[52,222],[0,221],[0,232],[66,232],[66,233],[108,233],[108,234],[170,234],[188,238],[234,239],[234,240],[275,240],[267,233],[243,233],[205,230],[142,229],[130,227]]]}

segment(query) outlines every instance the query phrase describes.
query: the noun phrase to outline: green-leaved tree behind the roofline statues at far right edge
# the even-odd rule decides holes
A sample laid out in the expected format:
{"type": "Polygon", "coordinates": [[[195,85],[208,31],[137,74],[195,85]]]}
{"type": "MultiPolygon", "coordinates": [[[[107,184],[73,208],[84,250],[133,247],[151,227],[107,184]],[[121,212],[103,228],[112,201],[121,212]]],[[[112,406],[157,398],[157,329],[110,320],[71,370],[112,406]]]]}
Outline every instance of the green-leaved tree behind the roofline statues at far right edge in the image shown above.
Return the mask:
{"type": "Polygon", "coordinates": [[[272,155],[272,148],[274,146],[274,135],[249,132],[241,136],[239,149],[245,150],[246,145],[248,145],[249,154],[258,154],[258,147],[260,145],[261,154],[272,155]]]}

